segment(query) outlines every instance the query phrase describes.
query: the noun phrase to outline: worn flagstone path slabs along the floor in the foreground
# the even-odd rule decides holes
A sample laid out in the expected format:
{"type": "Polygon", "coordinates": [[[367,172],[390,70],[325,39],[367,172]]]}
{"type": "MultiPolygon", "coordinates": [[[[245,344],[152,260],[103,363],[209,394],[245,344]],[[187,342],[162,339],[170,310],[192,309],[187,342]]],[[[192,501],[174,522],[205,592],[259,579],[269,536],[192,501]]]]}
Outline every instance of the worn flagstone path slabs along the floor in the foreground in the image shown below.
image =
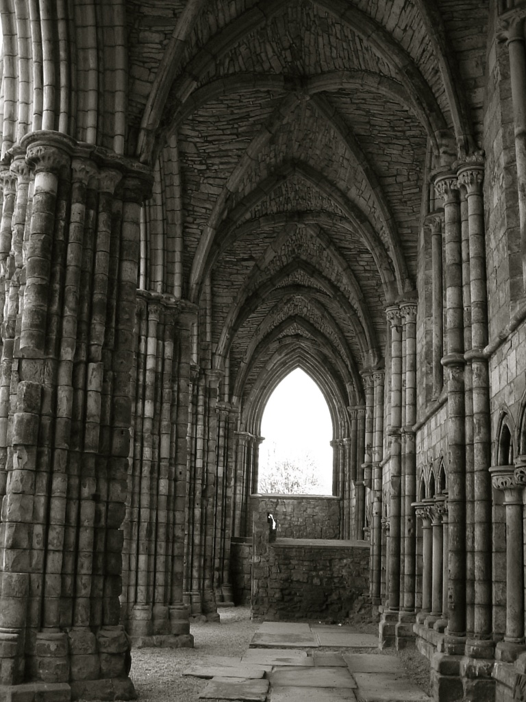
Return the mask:
{"type": "Polygon", "coordinates": [[[246,702],[429,702],[374,635],[350,627],[265,622],[241,657],[210,656],[184,675],[210,678],[201,699],[246,702]],[[261,642],[261,643],[260,643],[261,642]],[[316,650],[342,648],[345,652],[316,650]],[[304,649],[309,648],[309,651],[304,649]],[[348,649],[371,649],[349,653],[348,649]],[[311,650],[314,649],[314,650],[311,650]],[[372,652],[375,651],[375,652],[372,652]]]}

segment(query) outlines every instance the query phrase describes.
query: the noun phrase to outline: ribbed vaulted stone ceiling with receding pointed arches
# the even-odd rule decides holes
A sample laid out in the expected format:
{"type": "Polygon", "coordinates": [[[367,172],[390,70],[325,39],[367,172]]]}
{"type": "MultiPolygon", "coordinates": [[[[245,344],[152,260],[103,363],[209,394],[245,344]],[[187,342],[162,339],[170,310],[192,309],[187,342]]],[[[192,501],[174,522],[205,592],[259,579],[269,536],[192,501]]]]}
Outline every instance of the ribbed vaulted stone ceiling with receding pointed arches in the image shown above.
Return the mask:
{"type": "Polygon", "coordinates": [[[363,401],[429,169],[476,149],[486,22],[478,0],[128,3],[130,152],[177,150],[182,291],[210,290],[234,399],[301,365],[363,401]]]}

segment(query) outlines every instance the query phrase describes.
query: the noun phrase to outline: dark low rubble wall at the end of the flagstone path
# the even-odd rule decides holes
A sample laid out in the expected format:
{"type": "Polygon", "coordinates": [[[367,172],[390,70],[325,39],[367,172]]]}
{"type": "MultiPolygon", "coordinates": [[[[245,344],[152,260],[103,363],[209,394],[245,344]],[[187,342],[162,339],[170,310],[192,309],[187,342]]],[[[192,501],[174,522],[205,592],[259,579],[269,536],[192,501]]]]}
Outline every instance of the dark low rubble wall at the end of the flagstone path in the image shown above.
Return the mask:
{"type": "Polygon", "coordinates": [[[255,522],[252,618],[342,621],[369,597],[369,543],[276,538],[255,522]]]}

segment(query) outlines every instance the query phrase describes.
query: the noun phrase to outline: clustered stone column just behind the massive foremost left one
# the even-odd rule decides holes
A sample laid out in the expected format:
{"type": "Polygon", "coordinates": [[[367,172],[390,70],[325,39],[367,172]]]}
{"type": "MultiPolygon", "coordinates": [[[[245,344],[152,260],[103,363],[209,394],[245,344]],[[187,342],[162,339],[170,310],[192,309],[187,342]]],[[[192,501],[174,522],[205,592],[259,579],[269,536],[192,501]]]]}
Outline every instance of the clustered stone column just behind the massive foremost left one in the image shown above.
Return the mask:
{"type": "Polygon", "coordinates": [[[169,296],[138,293],[121,597],[137,647],[192,645],[182,562],[194,315],[169,296]]]}

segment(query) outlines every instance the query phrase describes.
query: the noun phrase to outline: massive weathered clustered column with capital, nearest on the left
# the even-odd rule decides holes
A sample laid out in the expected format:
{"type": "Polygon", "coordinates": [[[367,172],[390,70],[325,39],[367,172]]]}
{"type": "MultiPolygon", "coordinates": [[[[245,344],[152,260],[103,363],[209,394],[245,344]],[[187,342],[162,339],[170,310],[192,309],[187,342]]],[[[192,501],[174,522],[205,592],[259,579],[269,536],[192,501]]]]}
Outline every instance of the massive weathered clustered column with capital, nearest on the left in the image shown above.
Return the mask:
{"type": "MultiPolygon", "coordinates": [[[[121,551],[146,168],[27,135],[0,225],[0,682],[130,698],[121,551]],[[13,187],[15,186],[15,187],[13,187]]],[[[46,693],[47,694],[47,693],[46,693]]]]}

